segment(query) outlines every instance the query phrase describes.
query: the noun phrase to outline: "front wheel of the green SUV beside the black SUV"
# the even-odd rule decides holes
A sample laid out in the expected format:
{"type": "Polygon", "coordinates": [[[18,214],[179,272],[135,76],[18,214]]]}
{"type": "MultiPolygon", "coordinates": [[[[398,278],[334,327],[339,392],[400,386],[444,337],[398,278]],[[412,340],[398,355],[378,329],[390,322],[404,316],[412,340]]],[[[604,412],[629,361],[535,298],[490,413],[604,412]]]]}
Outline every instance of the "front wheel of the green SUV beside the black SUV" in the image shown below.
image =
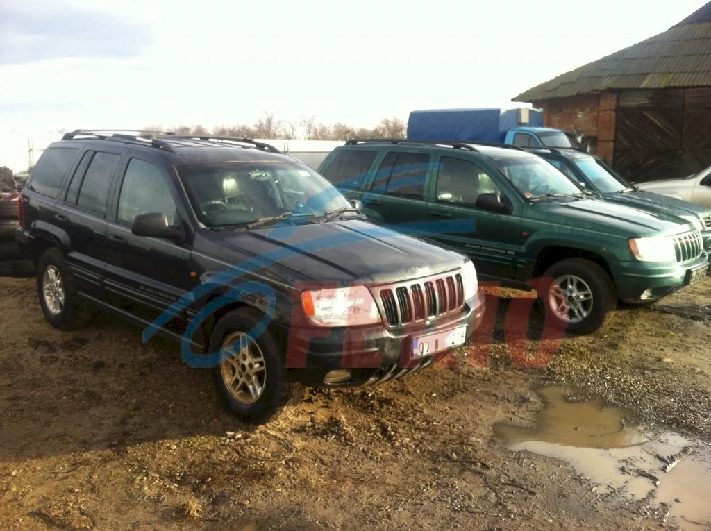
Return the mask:
{"type": "Polygon", "coordinates": [[[552,280],[547,293],[539,294],[545,308],[545,319],[547,322],[553,320],[556,326],[568,333],[583,335],[596,331],[614,309],[616,296],[612,280],[594,262],[582,258],[565,259],[549,267],[543,277],[552,280]],[[560,284],[565,288],[572,286],[574,291],[571,296],[582,297],[576,305],[580,313],[574,313],[572,307],[567,306],[567,301],[562,300],[564,294],[555,290],[555,286],[560,287],[560,284]],[[556,291],[558,296],[555,296],[556,291]],[[585,298],[585,294],[589,299],[585,298]],[[563,313],[567,318],[562,316],[563,313]]]}

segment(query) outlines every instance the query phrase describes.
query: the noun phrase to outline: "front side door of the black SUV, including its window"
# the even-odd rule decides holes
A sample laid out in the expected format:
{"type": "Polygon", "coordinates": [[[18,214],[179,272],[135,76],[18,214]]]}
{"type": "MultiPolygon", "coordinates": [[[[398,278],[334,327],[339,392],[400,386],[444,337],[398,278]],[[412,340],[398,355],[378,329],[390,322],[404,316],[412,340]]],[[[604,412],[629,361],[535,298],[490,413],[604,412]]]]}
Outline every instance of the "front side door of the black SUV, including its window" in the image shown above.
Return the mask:
{"type": "MultiPolygon", "coordinates": [[[[112,304],[153,320],[197,284],[191,277],[192,236],[172,168],[159,156],[132,150],[122,165],[107,223],[106,289],[112,304]],[[164,213],[183,225],[186,241],[136,236],[139,214],[164,213]]],[[[173,321],[184,326],[184,321],[173,321]]]]}

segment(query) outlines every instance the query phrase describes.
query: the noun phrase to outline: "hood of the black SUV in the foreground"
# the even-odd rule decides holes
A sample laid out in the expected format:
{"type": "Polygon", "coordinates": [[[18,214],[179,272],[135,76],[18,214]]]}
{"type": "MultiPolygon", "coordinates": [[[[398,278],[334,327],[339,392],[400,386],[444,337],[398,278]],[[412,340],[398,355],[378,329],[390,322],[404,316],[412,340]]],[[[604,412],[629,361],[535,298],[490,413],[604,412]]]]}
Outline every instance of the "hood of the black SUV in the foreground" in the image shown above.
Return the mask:
{"type": "Polygon", "coordinates": [[[287,283],[306,279],[319,283],[379,284],[437,274],[460,267],[465,260],[456,252],[364,220],[277,225],[214,234],[213,241],[223,250],[232,249],[242,256],[248,252],[267,260],[260,269],[274,271],[276,266],[287,283]]]}

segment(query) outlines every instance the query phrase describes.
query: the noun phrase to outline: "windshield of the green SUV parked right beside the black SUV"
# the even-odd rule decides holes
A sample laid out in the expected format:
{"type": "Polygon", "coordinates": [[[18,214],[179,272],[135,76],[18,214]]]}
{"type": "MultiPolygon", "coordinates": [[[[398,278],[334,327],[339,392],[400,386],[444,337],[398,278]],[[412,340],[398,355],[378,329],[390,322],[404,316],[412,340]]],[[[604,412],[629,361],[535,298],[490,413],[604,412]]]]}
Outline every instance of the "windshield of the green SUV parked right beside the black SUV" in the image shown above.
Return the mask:
{"type": "Polygon", "coordinates": [[[538,157],[510,157],[493,160],[491,163],[527,198],[582,193],[563,173],[538,157]]]}

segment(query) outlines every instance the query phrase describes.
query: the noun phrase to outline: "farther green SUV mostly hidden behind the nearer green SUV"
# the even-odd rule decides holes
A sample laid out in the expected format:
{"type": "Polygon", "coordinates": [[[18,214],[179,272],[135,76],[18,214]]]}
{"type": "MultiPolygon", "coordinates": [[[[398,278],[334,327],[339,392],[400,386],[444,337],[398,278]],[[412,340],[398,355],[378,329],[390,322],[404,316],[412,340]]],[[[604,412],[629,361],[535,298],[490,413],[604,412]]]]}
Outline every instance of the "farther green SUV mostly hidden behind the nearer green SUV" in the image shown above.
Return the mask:
{"type": "Polygon", "coordinates": [[[687,220],[701,232],[704,249],[711,252],[711,206],[705,207],[673,195],[661,195],[640,188],[598,156],[573,149],[530,148],[529,151],[550,162],[586,190],[599,193],[605,200],[651,213],[673,214],[687,220]]]}

